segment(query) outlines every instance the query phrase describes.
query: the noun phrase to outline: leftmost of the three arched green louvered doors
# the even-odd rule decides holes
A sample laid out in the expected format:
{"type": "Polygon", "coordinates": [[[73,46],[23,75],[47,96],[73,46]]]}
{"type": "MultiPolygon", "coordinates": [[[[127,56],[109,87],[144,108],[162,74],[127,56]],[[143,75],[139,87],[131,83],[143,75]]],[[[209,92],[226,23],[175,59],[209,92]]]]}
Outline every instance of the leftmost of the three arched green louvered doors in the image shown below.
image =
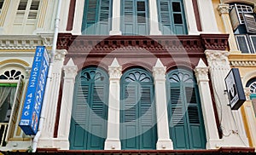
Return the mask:
{"type": "Polygon", "coordinates": [[[70,149],[102,150],[107,137],[108,74],[90,67],[79,72],[73,95],[70,149]]]}

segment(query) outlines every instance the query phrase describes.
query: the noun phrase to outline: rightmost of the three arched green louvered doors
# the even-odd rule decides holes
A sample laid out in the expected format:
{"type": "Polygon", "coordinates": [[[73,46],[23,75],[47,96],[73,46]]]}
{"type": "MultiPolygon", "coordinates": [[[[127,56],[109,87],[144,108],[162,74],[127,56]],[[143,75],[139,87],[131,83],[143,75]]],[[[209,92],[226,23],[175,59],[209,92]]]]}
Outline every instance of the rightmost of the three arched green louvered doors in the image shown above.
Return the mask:
{"type": "Polygon", "coordinates": [[[174,70],[166,79],[169,128],[174,148],[206,148],[200,97],[192,72],[174,70]]]}

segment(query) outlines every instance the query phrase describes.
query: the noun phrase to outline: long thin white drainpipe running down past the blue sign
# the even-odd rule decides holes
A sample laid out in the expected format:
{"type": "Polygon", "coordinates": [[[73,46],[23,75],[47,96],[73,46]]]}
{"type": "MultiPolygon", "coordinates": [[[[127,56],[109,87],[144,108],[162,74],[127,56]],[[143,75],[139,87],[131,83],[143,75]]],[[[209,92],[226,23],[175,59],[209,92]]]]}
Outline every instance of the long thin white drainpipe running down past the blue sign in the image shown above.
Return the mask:
{"type": "MultiPolygon", "coordinates": [[[[62,0],[59,0],[58,8],[57,8],[57,14],[56,14],[56,17],[55,17],[55,33],[54,33],[54,37],[53,37],[53,45],[52,45],[51,54],[50,54],[49,73],[48,73],[48,77],[47,77],[47,83],[46,83],[46,86],[45,86],[45,92],[49,89],[49,81],[52,78],[52,67],[54,65],[55,51],[56,51],[57,38],[58,38],[58,32],[59,32],[61,3],[62,3],[62,0]]],[[[43,124],[44,124],[44,119],[45,119],[45,107],[46,107],[46,104],[49,104],[45,100],[47,98],[48,98],[48,93],[46,93],[44,95],[44,104],[42,105],[40,120],[39,120],[39,124],[38,124],[38,132],[33,137],[33,141],[32,141],[32,152],[37,151],[38,138],[41,135],[41,130],[43,129],[43,124]]]]}

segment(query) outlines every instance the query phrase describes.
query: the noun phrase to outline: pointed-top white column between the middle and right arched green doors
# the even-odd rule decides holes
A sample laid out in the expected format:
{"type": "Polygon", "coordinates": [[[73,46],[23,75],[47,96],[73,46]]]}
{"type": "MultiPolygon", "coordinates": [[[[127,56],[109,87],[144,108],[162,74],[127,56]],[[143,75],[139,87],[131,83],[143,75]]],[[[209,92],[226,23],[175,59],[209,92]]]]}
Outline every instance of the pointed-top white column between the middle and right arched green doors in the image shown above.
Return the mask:
{"type": "Polygon", "coordinates": [[[157,150],[173,150],[172,140],[169,135],[168,114],[166,103],[166,66],[158,59],[153,67],[154,95],[156,104],[156,123],[158,141],[157,150]]]}

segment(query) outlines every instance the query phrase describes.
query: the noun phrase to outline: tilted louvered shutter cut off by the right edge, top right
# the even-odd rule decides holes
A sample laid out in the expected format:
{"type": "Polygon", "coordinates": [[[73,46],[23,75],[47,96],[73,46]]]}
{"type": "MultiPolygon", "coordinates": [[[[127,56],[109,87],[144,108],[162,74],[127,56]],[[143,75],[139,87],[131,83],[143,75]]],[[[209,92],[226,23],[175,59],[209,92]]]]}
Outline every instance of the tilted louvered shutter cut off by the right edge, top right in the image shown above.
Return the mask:
{"type": "Polygon", "coordinates": [[[243,14],[244,22],[248,33],[256,33],[256,21],[254,14],[243,14]]]}

